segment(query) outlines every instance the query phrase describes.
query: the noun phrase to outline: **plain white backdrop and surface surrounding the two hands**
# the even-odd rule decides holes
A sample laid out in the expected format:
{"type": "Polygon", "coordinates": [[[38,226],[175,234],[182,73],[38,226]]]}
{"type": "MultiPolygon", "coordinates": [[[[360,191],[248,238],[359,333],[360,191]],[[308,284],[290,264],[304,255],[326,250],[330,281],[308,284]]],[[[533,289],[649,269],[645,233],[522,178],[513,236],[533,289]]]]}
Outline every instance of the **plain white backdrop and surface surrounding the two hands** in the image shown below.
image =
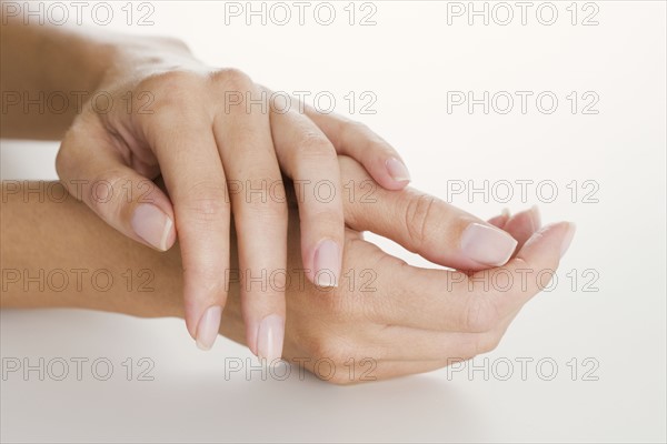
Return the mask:
{"type": "MultiPolygon", "coordinates": [[[[349,3],[310,2],[303,24],[292,2],[266,3],[266,24],[246,23],[260,2],[135,2],[131,17],[109,2],[108,26],[83,18],[100,31],[179,37],[211,65],[308,91],[311,103],[319,93],[321,109],[334,97],[337,112],[400,151],[414,186],[480,216],[537,204],[545,222],[575,221],[554,289],[465,369],[350,387],[226,379],[225,359],[250,353],[222,337],[199,352],[177,320],[6,311],[3,362],[106,359],[115,372],[7,374],[2,442],[665,442],[666,3],[532,2],[521,23],[515,2],[490,2],[488,24],[468,16],[484,2],[349,3]],[[145,14],[152,24],[137,23],[145,14]],[[485,92],[488,113],[468,109],[485,92]],[[488,195],[470,193],[485,180],[488,195]],[[532,181],[525,199],[517,181],[532,181]],[[153,381],[127,381],[128,359],[135,372],[152,362],[153,381]]],[[[2,179],[54,179],[57,147],[3,141],[2,179]]]]}

